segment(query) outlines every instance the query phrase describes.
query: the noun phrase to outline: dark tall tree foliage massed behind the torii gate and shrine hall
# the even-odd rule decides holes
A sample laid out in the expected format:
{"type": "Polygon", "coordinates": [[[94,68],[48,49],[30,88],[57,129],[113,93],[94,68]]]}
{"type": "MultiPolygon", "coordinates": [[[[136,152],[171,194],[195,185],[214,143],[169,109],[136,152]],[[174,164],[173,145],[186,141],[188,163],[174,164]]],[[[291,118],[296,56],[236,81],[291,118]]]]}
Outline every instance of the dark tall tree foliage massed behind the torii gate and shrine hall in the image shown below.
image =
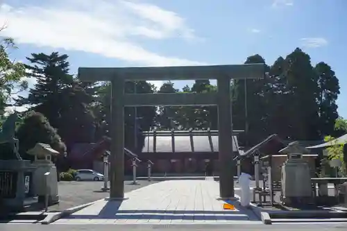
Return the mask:
{"type": "MultiPolygon", "coordinates": [[[[33,53],[27,58],[28,76],[37,84],[17,105],[30,105],[41,112],[56,128],[67,146],[81,142],[96,142],[110,131],[110,83],[92,85],[80,83],[69,73],[68,56],[53,52],[33,53]]],[[[246,64],[264,63],[260,54],[251,55],[246,64]]],[[[312,66],[310,55],[295,49],[266,65],[266,78],[233,80],[232,125],[235,130],[247,130],[244,137],[253,146],[276,133],[289,140],[322,140],[326,135],[337,137],[345,132],[338,119],[337,97],[339,80],[325,62],[312,66]],[[247,114],[247,117],[246,117],[247,114]],[[336,123],[335,123],[336,121],[336,123]]],[[[145,81],[126,82],[126,93],[205,93],[216,92],[210,80],[196,80],[192,87],[177,89],[174,83],[164,83],[158,91],[145,81]]],[[[190,128],[218,129],[217,107],[126,107],[126,147],[141,146],[141,130],[190,128]],[[135,120],[137,128],[135,128],[135,120]],[[135,136],[138,144],[135,144],[135,136]]]]}

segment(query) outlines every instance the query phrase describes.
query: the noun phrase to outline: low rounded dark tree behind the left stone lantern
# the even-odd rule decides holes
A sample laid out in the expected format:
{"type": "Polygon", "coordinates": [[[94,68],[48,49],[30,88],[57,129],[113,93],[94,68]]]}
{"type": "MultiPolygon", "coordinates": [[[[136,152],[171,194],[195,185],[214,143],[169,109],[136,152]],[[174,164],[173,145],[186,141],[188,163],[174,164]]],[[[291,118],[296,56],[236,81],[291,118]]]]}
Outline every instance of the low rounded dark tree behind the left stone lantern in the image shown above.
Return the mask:
{"type": "Polygon", "coordinates": [[[19,139],[19,154],[24,160],[33,160],[34,157],[26,152],[37,143],[49,144],[59,153],[65,152],[65,144],[40,112],[28,112],[22,125],[17,129],[17,139],[19,139]]]}

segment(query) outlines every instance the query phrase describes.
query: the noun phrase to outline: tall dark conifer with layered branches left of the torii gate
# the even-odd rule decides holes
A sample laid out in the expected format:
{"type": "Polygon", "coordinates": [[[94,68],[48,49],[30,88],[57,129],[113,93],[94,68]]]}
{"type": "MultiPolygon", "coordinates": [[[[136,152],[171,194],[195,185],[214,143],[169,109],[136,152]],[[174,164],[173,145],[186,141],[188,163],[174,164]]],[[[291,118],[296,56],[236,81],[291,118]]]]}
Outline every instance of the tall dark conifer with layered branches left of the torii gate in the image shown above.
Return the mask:
{"type": "Polygon", "coordinates": [[[94,142],[97,124],[90,104],[96,89],[90,83],[79,83],[69,74],[69,58],[53,52],[32,53],[26,65],[37,83],[28,96],[19,97],[17,105],[31,105],[31,110],[41,112],[70,148],[75,143],[94,142]]]}

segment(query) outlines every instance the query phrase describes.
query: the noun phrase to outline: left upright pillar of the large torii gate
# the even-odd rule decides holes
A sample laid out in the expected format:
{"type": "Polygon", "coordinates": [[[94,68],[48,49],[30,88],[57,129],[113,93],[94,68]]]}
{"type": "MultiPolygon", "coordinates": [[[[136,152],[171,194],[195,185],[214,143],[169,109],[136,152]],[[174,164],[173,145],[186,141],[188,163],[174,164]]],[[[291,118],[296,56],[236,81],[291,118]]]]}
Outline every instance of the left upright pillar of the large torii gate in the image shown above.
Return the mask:
{"type": "Polygon", "coordinates": [[[124,198],[124,80],[112,80],[110,200],[124,198]]]}

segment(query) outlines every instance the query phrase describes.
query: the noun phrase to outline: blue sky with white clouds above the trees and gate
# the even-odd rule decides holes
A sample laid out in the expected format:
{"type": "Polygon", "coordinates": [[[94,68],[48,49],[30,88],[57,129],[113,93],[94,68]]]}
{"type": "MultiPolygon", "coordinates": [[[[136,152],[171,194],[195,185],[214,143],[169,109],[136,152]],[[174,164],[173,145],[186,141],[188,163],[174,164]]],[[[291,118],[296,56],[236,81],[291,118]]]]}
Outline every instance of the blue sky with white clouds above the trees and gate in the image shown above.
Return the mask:
{"type": "Polygon", "coordinates": [[[8,25],[1,35],[19,46],[12,58],[60,51],[70,56],[73,72],[241,64],[255,53],[271,65],[301,47],[312,65],[324,61],[336,72],[339,113],[347,118],[344,0],[5,0],[0,6],[0,22],[8,25]]]}

